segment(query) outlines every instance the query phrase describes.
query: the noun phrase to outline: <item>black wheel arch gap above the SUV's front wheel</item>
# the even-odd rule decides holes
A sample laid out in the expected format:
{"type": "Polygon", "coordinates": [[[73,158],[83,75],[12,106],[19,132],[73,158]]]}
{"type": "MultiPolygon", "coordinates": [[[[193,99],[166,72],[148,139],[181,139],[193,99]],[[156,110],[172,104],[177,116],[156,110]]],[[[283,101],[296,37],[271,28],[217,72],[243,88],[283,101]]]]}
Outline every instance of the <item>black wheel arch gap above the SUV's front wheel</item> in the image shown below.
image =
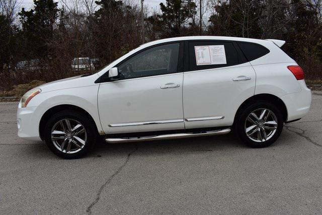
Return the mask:
{"type": "Polygon", "coordinates": [[[89,119],[91,119],[91,122],[92,122],[93,126],[95,126],[96,131],[99,132],[93,117],[86,110],[84,110],[83,108],[78,107],[76,105],[63,104],[63,105],[56,105],[54,107],[51,107],[42,115],[40,122],[39,122],[39,136],[42,140],[44,139],[44,131],[45,131],[45,125],[46,125],[47,120],[53,114],[58,113],[62,110],[75,110],[75,111],[82,112],[82,113],[86,114],[89,117],[89,119]]]}

